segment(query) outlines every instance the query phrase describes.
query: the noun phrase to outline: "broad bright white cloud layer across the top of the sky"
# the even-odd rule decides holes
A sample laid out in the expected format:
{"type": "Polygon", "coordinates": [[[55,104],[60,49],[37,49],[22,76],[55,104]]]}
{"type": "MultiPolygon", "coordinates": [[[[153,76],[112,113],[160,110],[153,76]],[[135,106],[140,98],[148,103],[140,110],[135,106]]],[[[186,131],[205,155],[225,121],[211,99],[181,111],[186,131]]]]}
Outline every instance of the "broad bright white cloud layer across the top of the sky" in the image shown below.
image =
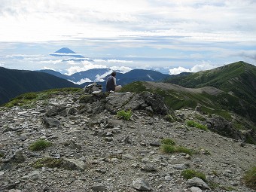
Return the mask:
{"type": "Polygon", "coordinates": [[[249,41],[249,38],[255,39],[256,26],[251,25],[255,8],[256,2],[248,0],[224,3],[111,0],[107,4],[102,0],[86,3],[81,0],[2,0],[0,41],[177,33],[201,41],[227,41],[227,38],[229,41],[249,41]]]}

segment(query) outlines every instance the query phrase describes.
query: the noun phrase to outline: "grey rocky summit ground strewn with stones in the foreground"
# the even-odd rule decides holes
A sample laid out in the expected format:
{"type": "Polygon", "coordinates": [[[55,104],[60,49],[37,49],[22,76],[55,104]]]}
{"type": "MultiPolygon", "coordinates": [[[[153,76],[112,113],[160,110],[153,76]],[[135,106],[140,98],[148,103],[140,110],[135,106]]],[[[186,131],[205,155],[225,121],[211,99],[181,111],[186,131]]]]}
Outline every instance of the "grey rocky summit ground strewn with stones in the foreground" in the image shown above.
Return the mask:
{"type": "Polygon", "coordinates": [[[62,92],[2,107],[0,191],[254,191],[242,178],[255,145],[210,131],[221,123],[186,123],[203,119],[220,121],[152,93],[62,92]]]}

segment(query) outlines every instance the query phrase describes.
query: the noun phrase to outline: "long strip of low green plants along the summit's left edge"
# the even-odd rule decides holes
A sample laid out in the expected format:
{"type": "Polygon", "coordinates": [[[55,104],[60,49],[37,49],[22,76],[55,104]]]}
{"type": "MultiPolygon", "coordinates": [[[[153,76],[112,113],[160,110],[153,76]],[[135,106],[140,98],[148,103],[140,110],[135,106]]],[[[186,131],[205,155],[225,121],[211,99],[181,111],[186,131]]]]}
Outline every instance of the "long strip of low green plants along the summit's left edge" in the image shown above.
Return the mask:
{"type": "Polygon", "coordinates": [[[23,93],[20,96],[11,99],[10,102],[5,104],[5,107],[11,108],[13,106],[32,107],[38,100],[49,99],[51,96],[56,94],[68,94],[80,91],[80,88],[62,88],[45,90],[41,92],[23,93]]]}

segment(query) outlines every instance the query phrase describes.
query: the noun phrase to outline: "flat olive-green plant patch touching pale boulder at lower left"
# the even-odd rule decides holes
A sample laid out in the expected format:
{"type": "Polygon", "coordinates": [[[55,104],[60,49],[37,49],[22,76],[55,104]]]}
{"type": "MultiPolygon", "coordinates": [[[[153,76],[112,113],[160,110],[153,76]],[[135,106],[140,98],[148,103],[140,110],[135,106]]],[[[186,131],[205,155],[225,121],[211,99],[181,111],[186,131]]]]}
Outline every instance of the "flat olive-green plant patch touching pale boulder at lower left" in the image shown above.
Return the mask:
{"type": "Polygon", "coordinates": [[[35,163],[32,163],[32,166],[37,169],[43,166],[49,167],[49,168],[54,168],[54,167],[59,168],[63,166],[63,163],[61,159],[44,157],[44,158],[41,158],[40,160],[35,161],[35,163]]]}

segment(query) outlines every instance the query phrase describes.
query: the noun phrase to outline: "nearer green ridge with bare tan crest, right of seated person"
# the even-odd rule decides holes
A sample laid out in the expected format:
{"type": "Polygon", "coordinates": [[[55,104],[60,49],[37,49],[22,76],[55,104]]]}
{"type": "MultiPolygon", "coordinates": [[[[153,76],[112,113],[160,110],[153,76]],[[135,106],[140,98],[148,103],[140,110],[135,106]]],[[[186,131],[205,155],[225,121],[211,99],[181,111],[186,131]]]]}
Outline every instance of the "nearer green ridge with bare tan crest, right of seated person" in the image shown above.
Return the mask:
{"type": "MultiPolygon", "coordinates": [[[[221,116],[230,122],[229,124],[233,129],[248,133],[245,136],[246,142],[255,143],[255,121],[251,121],[245,116],[245,114],[248,114],[249,104],[243,104],[245,106],[243,108],[239,97],[230,95],[215,87],[186,88],[169,83],[136,81],[127,84],[121,91],[136,93],[149,91],[163,96],[166,105],[173,110],[200,108],[200,111],[203,114],[208,114],[209,117],[221,116]]],[[[251,118],[255,120],[255,118],[251,118]]],[[[231,133],[227,133],[225,136],[229,134],[231,133]]]]}

